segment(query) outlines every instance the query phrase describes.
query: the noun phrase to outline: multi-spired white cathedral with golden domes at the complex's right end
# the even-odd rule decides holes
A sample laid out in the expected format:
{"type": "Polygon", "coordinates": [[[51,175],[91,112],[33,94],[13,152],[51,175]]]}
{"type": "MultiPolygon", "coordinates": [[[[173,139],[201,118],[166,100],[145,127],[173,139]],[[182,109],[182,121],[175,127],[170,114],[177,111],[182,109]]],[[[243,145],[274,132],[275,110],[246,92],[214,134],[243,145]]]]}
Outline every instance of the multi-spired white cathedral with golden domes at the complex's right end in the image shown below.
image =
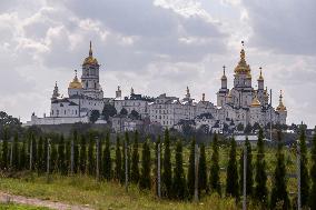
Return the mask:
{"type": "Polygon", "coordinates": [[[227,77],[221,77],[221,87],[217,92],[217,107],[220,110],[221,120],[233,120],[235,124],[251,124],[256,122],[266,126],[268,122],[286,124],[287,110],[283,104],[283,94],[280,91],[279,104],[276,110],[269,103],[269,94],[265,89],[263,69],[257,79],[257,89],[253,88],[251,70],[246,62],[245,50],[240,51],[240,60],[234,70],[234,87],[228,89],[227,77]]]}

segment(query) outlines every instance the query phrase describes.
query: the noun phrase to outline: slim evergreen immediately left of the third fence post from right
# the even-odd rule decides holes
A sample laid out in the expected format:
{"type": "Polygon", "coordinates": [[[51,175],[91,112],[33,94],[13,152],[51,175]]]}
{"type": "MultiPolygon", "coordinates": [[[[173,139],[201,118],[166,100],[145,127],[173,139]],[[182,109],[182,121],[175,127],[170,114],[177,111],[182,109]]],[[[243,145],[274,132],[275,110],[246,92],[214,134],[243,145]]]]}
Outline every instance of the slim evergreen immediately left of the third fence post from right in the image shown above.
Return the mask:
{"type": "Polygon", "coordinates": [[[190,154],[189,154],[189,169],[188,169],[188,191],[190,198],[195,193],[195,174],[196,174],[196,169],[195,169],[195,150],[196,150],[196,140],[192,139],[191,144],[190,144],[190,154]]]}

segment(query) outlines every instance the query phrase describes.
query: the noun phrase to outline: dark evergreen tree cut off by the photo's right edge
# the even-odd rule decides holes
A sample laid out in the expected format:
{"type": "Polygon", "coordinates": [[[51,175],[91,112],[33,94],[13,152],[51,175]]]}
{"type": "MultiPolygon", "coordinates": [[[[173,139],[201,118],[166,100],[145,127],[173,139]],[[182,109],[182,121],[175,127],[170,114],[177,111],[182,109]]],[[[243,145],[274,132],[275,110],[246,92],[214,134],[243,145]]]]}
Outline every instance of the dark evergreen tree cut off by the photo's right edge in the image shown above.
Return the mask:
{"type": "Polygon", "coordinates": [[[316,209],[316,129],[314,131],[313,137],[313,148],[312,148],[312,169],[310,169],[310,178],[312,178],[312,188],[309,194],[309,207],[310,209],[316,209]]]}

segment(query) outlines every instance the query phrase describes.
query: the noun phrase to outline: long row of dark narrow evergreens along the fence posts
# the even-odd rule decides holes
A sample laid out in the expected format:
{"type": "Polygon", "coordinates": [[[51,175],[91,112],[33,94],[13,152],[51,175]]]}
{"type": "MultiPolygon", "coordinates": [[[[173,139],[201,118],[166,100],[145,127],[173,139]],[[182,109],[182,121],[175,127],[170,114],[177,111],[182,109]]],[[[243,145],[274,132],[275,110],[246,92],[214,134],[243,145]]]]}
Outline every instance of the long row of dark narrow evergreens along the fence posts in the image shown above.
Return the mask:
{"type": "MultiPolygon", "coordinates": [[[[268,188],[267,162],[263,130],[258,133],[257,149],[253,152],[246,139],[240,159],[234,138],[229,141],[229,154],[226,181],[221,182],[219,166],[219,141],[214,134],[211,154],[207,157],[206,146],[191,140],[188,162],[185,162],[182,141],[170,142],[169,131],[154,143],[148,138],[139,143],[138,132],[117,136],[111,143],[106,137],[90,131],[71,138],[63,136],[38,137],[30,132],[20,138],[9,138],[4,129],[0,164],[2,172],[36,171],[39,174],[60,173],[95,176],[99,181],[116,181],[137,184],[141,190],[152,190],[158,197],[175,200],[195,200],[216,193],[219,197],[233,197],[241,202],[244,192],[244,163],[246,163],[247,199],[263,209],[290,209],[296,199],[289,199],[287,171],[282,133],[278,133],[275,153],[275,169],[271,174],[271,188],[268,188]],[[246,154],[246,157],[244,157],[246,154]],[[245,158],[245,159],[244,159],[245,158]],[[207,161],[210,159],[210,161],[207,161]],[[246,162],[245,162],[246,160],[246,162]],[[184,167],[185,166],[185,167],[184,167]]],[[[300,164],[302,207],[316,209],[316,136],[309,152],[305,132],[302,130],[297,148],[300,164]],[[308,164],[310,160],[310,164],[308,164]],[[308,166],[312,166],[308,169],[308,166]]]]}

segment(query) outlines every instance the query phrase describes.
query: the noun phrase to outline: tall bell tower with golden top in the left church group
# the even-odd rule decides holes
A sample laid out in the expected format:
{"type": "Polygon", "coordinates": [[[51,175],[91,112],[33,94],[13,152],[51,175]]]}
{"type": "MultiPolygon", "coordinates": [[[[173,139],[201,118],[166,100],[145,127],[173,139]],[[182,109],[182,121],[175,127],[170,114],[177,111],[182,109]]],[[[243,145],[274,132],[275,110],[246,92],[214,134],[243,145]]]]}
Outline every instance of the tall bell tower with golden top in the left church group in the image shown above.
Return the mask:
{"type": "Polygon", "coordinates": [[[92,44],[90,41],[89,56],[83,60],[82,63],[82,76],[81,82],[83,86],[83,94],[87,97],[102,99],[103,91],[99,83],[99,63],[92,54],[92,44]]]}

